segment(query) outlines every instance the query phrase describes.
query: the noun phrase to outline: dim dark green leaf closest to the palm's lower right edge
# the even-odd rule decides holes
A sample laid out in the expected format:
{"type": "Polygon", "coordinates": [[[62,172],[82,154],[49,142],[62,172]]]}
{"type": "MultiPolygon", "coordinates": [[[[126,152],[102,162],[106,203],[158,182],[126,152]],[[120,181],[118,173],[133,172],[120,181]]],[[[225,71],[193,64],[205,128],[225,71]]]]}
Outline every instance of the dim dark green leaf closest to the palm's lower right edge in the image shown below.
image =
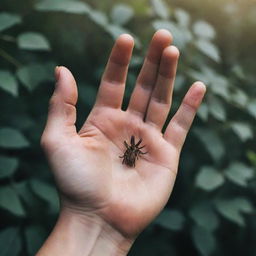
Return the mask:
{"type": "Polygon", "coordinates": [[[185,217],[180,211],[168,209],[162,211],[155,220],[156,224],[174,231],[181,230],[183,228],[184,222],[185,217]]]}

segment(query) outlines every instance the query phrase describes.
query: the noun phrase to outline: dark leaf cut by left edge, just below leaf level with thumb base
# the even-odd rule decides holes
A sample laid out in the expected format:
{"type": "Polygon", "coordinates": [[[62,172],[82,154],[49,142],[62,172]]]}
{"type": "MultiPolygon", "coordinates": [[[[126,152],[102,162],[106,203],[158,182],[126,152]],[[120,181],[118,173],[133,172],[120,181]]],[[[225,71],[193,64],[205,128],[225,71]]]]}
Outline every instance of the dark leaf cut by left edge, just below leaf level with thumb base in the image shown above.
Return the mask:
{"type": "Polygon", "coordinates": [[[19,161],[15,157],[0,156],[0,179],[12,176],[18,164],[19,161]]]}

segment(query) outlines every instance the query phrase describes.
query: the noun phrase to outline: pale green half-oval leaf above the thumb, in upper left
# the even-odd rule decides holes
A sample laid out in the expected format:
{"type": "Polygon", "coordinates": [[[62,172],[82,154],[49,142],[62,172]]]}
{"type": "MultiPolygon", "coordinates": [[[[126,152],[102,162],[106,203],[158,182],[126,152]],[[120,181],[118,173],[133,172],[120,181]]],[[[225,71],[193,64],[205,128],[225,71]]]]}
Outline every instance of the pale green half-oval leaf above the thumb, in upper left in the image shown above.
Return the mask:
{"type": "Polygon", "coordinates": [[[23,50],[50,51],[48,40],[40,33],[26,32],[18,36],[18,46],[23,50]]]}

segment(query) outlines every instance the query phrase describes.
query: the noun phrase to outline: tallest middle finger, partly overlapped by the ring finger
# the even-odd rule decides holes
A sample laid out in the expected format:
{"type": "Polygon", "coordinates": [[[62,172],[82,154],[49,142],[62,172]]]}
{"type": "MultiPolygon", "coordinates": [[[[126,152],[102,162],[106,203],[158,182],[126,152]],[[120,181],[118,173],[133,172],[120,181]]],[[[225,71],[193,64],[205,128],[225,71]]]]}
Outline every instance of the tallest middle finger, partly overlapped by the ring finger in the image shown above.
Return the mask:
{"type": "Polygon", "coordinates": [[[138,76],[136,86],[133,90],[128,111],[135,112],[145,117],[150,95],[155,86],[157,71],[163,50],[170,45],[172,35],[169,31],[158,30],[149,45],[147,56],[138,76]]]}

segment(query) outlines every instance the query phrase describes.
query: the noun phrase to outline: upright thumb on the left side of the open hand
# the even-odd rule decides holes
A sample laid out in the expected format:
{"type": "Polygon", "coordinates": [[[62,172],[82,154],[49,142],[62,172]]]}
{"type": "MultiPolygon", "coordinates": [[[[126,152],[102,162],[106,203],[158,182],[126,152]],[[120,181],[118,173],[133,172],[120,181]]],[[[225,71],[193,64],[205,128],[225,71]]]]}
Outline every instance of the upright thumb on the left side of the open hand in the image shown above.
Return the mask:
{"type": "Polygon", "coordinates": [[[77,85],[71,72],[65,67],[56,67],[56,86],[50,99],[46,130],[61,132],[71,127],[75,129],[77,85]]]}

